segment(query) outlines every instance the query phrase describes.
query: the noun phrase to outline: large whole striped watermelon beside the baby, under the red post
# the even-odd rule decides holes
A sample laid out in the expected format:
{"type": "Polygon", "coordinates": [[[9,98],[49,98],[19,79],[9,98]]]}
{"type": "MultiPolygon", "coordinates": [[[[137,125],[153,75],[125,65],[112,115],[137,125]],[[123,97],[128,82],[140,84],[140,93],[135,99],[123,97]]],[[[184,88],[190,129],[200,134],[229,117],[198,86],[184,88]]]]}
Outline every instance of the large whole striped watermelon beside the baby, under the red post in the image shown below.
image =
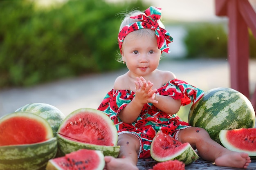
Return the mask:
{"type": "Polygon", "coordinates": [[[242,93],[232,88],[213,88],[189,111],[189,124],[204,128],[220,144],[220,130],[253,128],[254,108],[242,93]]]}

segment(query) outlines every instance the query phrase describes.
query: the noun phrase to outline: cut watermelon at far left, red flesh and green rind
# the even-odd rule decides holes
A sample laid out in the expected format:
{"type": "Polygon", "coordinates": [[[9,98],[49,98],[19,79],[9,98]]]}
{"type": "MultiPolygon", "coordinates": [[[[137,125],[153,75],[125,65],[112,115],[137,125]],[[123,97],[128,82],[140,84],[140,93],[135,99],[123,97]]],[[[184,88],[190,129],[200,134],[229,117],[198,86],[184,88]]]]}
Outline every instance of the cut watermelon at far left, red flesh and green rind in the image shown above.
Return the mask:
{"type": "Polygon", "coordinates": [[[56,152],[52,128],[39,115],[15,112],[0,118],[0,170],[43,170],[56,152]]]}

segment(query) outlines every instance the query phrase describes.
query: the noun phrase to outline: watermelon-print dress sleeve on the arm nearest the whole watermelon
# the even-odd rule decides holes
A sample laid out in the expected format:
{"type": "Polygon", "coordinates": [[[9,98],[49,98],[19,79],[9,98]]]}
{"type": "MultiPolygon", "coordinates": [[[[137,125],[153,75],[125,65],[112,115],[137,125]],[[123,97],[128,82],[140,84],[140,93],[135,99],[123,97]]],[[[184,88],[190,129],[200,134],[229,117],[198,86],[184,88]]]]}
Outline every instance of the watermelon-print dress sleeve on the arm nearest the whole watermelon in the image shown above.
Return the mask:
{"type": "Polygon", "coordinates": [[[197,102],[204,95],[204,91],[182,80],[172,79],[164,84],[159,94],[170,96],[173,99],[181,99],[181,105],[184,106],[191,102],[197,102]]]}

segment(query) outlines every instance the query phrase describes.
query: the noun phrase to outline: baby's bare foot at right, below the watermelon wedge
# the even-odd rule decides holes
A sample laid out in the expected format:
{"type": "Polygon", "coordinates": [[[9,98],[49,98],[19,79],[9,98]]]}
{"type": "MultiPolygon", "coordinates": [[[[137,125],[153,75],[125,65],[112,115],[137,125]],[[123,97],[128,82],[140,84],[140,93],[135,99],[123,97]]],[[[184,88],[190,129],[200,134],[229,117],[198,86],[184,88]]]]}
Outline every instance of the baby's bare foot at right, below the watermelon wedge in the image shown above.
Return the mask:
{"type": "Polygon", "coordinates": [[[228,166],[233,168],[247,168],[251,158],[244,152],[229,152],[221,155],[215,160],[217,166],[228,166]]]}

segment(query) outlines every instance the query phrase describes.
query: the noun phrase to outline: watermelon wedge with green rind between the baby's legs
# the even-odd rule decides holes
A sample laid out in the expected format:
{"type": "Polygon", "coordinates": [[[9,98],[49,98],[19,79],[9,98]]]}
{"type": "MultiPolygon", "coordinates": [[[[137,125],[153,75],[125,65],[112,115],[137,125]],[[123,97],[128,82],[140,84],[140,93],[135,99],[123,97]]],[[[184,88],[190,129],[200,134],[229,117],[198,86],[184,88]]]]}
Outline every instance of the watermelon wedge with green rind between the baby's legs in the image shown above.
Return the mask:
{"type": "Polygon", "coordinates": [[[152,141],[150,154],[158,162],[178,160],[185,163],[185,165],[199,158],[189,143],[182,144],[160,130],[152,141]]]}

